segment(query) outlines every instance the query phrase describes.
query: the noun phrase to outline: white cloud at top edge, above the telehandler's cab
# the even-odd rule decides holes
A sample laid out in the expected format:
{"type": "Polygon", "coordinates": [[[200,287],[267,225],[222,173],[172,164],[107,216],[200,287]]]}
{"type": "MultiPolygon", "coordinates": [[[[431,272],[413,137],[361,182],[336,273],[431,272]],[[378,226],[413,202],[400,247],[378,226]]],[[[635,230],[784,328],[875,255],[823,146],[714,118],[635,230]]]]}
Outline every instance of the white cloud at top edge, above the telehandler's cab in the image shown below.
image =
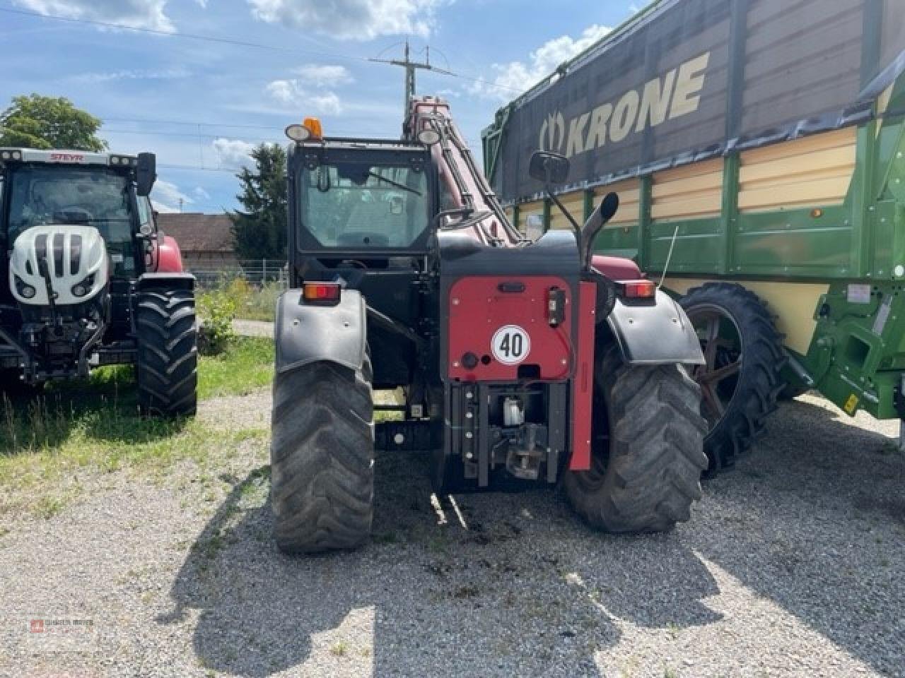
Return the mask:
{"type": "Polygon", "coordinates": [[[340,40],[431,32],[446,0],[247,0],[256,19],[325,33],[340,40]]]}

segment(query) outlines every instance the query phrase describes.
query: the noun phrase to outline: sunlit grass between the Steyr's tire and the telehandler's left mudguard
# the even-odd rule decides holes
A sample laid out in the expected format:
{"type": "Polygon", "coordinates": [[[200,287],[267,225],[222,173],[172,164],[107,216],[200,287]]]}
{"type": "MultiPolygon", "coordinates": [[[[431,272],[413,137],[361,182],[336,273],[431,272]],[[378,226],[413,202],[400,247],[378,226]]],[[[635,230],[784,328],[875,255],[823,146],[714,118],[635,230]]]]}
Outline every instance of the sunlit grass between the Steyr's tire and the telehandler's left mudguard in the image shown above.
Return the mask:
{"type": "Polygon", "coordinates": [[[198,398],[245,395],[273,381],[273,340],[243,336],[224,353],[202,356],[198,368],[198,398]]]}

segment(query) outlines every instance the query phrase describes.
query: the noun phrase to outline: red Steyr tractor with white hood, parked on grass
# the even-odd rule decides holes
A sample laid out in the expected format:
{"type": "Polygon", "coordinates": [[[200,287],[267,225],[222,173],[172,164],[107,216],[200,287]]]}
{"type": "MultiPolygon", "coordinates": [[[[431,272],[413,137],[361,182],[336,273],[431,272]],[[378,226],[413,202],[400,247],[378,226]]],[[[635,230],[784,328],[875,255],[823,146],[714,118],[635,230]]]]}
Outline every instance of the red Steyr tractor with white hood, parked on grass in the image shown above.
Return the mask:
{"type": "Polygon", "coordinates": [[[134,363],[146,413],[195,413],[195,278],[157,231],[153,154],[0,148],[0,380],[134,363]]]}

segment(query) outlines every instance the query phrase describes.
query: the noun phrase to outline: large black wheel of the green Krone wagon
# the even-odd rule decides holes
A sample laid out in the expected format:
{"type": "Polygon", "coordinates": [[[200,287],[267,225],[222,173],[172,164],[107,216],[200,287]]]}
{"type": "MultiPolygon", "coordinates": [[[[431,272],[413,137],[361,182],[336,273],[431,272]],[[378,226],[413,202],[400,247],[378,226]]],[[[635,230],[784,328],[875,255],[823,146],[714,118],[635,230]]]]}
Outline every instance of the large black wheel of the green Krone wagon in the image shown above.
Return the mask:
{"type": "Polygon", "coordinates": [[[745,287],[707,283],[689,290],[680,304],[707,361],[691,376],[701,387],[709,426],[704,449],[708,472],[715,473],[735,464],[763,433],[764,420],[786,387],[780,374],[786,353],[767,307],[745,287]]]}

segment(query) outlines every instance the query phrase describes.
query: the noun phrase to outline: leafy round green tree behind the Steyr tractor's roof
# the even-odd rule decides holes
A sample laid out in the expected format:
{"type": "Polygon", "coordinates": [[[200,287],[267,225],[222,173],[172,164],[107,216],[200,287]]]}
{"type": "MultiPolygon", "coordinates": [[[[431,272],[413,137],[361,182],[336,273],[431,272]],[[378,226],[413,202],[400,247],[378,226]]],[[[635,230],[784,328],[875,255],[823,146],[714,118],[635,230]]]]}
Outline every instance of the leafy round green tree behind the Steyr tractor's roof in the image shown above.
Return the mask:
{"type": "Polygon", "coordinates": [[[102,151],[107,142],[97,136],[100,125],[69,99],[23,95],[0,114],[0,146],[102,151]]]}

